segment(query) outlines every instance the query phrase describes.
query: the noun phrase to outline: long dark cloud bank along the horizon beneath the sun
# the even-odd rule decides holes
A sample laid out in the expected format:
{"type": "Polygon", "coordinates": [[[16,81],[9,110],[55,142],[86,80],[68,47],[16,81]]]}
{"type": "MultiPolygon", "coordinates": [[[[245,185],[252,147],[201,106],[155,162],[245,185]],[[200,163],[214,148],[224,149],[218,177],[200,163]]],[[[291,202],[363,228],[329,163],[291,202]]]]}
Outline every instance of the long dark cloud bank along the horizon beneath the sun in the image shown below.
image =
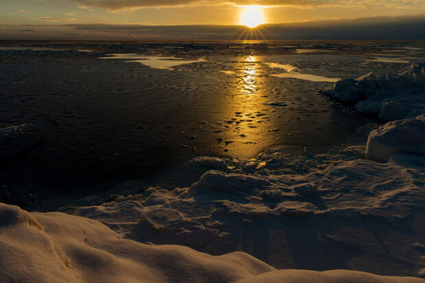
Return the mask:
{"type": "Polygon", "coordinates": [[[236,40],[345,39],[425,40],[425,16],[376,17],[261,25],[20,25],[3,26],[3,39],[236,40]],[[33,32],[19,32],[31,29],[33,32]]]}

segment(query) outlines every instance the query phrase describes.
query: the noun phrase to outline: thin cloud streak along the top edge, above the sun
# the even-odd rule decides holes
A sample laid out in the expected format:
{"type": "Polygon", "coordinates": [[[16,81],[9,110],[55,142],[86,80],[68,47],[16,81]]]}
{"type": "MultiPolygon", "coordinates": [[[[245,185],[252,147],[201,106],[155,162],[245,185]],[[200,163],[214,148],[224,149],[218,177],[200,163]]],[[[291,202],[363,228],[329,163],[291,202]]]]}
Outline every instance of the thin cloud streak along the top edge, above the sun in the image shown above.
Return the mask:
{"type": "Polygon", "coordinates": [[[345,6],[345,7],[425,7],[425,0],[73,0],[80,8],[105,8],[110,12],[149,7],[181,7],[187,5],[265,5],[265,6],[345,6]]]}

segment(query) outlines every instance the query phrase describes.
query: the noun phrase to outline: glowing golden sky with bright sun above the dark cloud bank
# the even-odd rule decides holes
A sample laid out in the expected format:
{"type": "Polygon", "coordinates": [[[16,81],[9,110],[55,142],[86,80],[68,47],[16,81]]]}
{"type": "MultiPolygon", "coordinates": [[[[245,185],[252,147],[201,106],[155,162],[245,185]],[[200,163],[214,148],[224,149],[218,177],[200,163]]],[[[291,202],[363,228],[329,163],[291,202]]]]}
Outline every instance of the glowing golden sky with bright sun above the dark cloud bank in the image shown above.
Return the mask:
{"type": "Polygon", "coordinates": [[[0,7],[0,39],[37,37],[34,31],[38,37],[49,31],[71,36],[99,24],[254,26],[334,20],[339,25],[343,19],[425,19],[425,0],[1,0],[0,7]],[[252,5],[254,15],[247,14],[252,5]],[[258,19],[251,23],[253,16],[258,19]]]}

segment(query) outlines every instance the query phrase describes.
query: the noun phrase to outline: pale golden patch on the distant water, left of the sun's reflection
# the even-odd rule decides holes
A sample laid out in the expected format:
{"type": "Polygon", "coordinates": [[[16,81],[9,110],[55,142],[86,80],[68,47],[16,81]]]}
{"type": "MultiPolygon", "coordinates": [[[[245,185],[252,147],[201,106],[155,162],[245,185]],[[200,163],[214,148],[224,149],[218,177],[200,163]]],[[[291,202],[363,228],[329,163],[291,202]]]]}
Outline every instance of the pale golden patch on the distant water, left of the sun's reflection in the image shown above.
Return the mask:
{"type": "Polygon", "coordinates": [[[195,62],[204,62],[204,59],[198,60],[185,60],[183,58],[175,57],[162,57],[162,56],[143,56],[140,54],[119,54],[114,53],[109,57],[102,57],[100,59],[131,59],[127,62],[138,62],[149,68],[173,70],[173,67],[184,64],[191,64],[195,62]]]}

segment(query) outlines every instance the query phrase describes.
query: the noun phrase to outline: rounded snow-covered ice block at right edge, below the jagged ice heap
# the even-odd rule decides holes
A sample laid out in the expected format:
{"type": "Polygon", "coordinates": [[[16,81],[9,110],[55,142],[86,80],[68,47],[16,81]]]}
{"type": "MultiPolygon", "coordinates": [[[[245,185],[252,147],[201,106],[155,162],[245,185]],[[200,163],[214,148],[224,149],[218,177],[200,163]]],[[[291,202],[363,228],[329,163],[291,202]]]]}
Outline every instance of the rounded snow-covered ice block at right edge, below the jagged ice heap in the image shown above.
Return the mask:
{"type": "Polygon", "coordinates": [[[393,153],[425,154],[425,119],[391,121],[369,134],[367,158],[387,162],[393,153]]]}

